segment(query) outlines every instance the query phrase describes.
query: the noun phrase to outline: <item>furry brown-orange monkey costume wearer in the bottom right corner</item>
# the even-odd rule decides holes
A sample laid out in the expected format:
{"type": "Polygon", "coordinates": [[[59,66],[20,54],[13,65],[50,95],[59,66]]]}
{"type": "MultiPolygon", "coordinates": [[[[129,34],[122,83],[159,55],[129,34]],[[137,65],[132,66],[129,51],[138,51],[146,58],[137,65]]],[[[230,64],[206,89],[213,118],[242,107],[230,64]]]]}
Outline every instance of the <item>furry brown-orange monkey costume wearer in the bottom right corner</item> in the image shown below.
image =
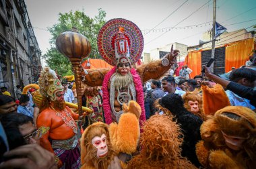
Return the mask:
{"type": "Polygon", "coordinates": [[[247,107],[227,106],[201,125],[196,145],[205,168],[255,168],[256,115],[247,107]]]}

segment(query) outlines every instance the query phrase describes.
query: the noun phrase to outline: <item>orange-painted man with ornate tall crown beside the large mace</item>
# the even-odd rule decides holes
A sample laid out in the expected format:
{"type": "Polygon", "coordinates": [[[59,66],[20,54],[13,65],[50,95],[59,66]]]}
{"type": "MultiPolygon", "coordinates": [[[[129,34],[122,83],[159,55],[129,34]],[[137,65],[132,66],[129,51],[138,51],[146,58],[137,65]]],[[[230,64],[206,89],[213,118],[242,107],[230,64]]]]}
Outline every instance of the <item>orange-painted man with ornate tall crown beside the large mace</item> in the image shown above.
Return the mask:
{"type": "Polygon", "coordinates": [[[44,68],[39,78],[42,100],[37,127],[44,129],[40,146],[55,154],[58,168],[79,168],[80,152],[76,138],[79,115],[65,106],[61,81],[50,68],[44,68]]]}

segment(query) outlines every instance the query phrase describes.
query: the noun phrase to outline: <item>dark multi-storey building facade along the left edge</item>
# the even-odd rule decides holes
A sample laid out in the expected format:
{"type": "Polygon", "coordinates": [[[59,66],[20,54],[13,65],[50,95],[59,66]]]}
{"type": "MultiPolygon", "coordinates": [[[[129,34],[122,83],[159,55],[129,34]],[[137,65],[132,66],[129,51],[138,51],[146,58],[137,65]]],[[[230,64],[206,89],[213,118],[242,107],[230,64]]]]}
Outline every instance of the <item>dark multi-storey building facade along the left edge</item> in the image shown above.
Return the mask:
{"type": "Polygon", "coordinates": [[[0,87],[15,97],[16,85],[38,80],[41,52],[24,0],[0,0],[0,87]]]}

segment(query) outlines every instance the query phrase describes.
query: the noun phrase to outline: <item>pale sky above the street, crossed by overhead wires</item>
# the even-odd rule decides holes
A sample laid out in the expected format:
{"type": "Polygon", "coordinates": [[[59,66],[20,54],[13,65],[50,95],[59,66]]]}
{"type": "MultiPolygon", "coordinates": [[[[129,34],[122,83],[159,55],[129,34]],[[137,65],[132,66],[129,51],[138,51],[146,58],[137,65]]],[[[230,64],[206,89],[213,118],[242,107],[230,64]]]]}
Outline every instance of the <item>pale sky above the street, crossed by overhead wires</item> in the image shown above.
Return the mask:
{"type": "MultiPolygon", "coordinates": [[[[213,0],[25,0],[42,54],[50,48],[47,27],[58,23],[59,13],[84,10],[94,17],[106,11],[106,21],[124,18],[143,33],[144,50],[174,42],[194,46],[212,28],[213,0]],[[208,3],[207,3],[208,2],[208,3]],[[157,30],[156,30],[157,29],[157,30]]],[[[217,0],[216,21],[228,32],[256,25],[256,0],[217,0]]]]}

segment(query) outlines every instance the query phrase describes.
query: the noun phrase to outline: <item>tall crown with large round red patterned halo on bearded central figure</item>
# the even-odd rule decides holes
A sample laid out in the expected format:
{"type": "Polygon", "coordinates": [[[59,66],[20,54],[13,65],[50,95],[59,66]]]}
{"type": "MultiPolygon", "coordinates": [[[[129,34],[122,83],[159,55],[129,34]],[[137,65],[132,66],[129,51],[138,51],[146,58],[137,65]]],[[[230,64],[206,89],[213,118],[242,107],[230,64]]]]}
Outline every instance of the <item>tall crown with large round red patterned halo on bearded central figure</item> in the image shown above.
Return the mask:
{"type": "Polygon", "coordinates": [[[135,23],[126,19],[107,21],[98,33],[98,50],[112,66],[137,62],[143,51],[143,36],[135,23]]]}

